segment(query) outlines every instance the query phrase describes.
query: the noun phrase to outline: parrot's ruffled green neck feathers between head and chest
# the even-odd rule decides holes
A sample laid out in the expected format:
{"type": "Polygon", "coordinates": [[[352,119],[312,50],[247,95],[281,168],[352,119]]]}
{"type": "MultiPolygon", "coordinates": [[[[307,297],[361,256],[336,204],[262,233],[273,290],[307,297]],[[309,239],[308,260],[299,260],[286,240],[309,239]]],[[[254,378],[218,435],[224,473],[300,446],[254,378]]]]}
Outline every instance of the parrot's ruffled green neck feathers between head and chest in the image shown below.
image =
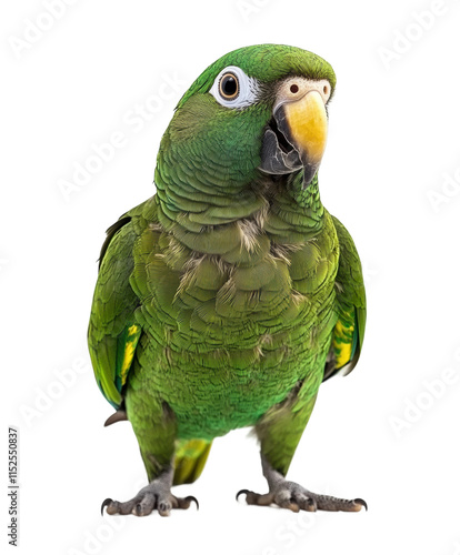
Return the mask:
{"type": "MultiPolygon", "coordinates": [[[[182,240],[201,235],[206,244],[216,241],[218,245],[219,233],[224,235],[232,224],[246,221],[257,222],[270,239],[287,243],[303,241],[322,229],[318,176],[303,189],[301,171],[273,180],[254,170],[247,183],[229,183],[209,160],[201,170],[191,170],[173,149],[160,149],[154,181],[159,221],[182,240]]],[[[214,250],[218,253],[219,246],[214,250]]]]}

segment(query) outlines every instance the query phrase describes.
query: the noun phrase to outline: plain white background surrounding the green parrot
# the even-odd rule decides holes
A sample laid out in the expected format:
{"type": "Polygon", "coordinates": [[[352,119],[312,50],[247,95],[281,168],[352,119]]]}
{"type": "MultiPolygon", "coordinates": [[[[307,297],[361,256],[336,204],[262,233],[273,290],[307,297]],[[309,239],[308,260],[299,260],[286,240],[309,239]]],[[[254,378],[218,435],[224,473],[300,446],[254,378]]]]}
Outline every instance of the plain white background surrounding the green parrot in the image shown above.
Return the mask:
{"type": "Polygon", "coordinates": [[[13,424],[24,554],[460,553],[459,2],[73,0],[43,13],[41,0],[0,13],[2,549],[13,424]],[[422,29],[426,10],[438,14],[422,29]],[[27,20],[50,29],[24,46],[27,20]],[[102,426],[111,407],[89,367],[104,230],[153,193],[160,138],[190,83],[260,42],[312,50],[337,72],[321,195],[352,233],[368,289],[361,361],[321,389],[289,476],[362,496],[369,512],[237,503],[242,487],[266,491],[244,430],[217,440],[202,477],[177,490],[198,513],[101,517],[104,497],[130,498],[144,480],[130,424],[102,426]],[[134,124],[142,104],[149,120],[134,124]],[[123,147],[66,198],[60,180],[113,132],[123,147]]]}

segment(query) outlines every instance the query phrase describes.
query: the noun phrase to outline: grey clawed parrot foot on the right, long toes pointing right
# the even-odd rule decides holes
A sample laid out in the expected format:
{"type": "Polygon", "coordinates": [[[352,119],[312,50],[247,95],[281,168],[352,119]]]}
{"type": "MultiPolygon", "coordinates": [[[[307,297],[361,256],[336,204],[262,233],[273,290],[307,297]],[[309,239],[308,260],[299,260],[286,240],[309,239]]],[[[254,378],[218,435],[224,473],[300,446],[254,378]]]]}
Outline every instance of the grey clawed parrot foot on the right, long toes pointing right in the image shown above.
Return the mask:
{"type": "Polygon", "coordinates": [[[269,493],[258,494],[248,490],[241,490],[240,494],[246,494],[248,505],[278,505],[281,508],[289,508],[294,513],[302,511],[344,511],[356,513],[366,509],[368,505],[364,500],[340,500],[329,495],[318,495],[312,493],[296,482],[289,482],[282,474],[277,472],[267,458],[262,455],[263,475],[269,485],[269,493]]]}

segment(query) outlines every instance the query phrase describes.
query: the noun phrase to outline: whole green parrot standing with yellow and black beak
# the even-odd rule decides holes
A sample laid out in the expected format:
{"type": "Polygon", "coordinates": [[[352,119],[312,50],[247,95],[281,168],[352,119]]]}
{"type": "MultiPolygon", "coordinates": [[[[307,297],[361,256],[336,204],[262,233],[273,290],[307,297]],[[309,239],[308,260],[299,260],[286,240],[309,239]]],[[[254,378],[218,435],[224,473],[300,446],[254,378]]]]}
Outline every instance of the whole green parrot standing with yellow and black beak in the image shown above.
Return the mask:
{"type": "MultiPolygon", "coordinates": [[[[88,342],[98,385],[129,420],[148,485],[109,514],[188,508],[214,437],[252,426],[269,492],[248,504],[367,508],[286,480],[320,384],[360,356],[366,296],[318,169],[336,75],[288,46],[241,48],[179,101],[157,193],[108,230],[88,342]]],[[[237,496],[238,497],[238,496],[237,496]]],[[[198,505],[198,502],[197,502],[198,505]]]]}

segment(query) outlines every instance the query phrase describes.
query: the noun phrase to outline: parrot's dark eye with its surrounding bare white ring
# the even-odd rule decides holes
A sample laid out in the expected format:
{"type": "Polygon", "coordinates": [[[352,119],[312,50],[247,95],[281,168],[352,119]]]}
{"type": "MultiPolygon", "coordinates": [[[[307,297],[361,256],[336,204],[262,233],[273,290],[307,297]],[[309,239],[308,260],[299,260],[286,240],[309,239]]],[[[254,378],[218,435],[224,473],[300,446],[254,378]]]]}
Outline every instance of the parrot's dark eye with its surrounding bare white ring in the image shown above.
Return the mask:
{"type": "Polygon", "coordinates": [[[257,101],[259,83],[242,69],[229,65],[216,78],[209,91],[214,99],[228,108],[246,108],[257,101]]]}

